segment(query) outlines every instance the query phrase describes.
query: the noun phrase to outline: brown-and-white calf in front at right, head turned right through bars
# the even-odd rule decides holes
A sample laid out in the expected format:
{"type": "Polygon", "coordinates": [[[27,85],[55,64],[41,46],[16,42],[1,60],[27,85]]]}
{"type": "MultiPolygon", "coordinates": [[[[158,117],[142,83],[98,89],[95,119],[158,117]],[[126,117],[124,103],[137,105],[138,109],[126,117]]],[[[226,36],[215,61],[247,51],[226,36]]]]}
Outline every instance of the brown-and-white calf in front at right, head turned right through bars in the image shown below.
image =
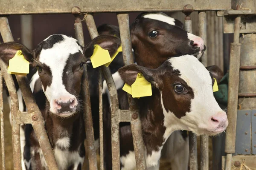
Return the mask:
{"type": "MultiPolygon", "coordinates": [[[[212,136],[226,129],[227,115],[213,96],[213,77],[195,57],[172,57],[157,69],[131,64],[118,72],[128,85],[138,73],[152,85],[152,96],[137,99],[147,168],[159,168],[163,144],[175,130],[212,136]]],[[[136,168],[134,150],[123,149],[128,154],[121,155],[122,170],[136,168]]]]}

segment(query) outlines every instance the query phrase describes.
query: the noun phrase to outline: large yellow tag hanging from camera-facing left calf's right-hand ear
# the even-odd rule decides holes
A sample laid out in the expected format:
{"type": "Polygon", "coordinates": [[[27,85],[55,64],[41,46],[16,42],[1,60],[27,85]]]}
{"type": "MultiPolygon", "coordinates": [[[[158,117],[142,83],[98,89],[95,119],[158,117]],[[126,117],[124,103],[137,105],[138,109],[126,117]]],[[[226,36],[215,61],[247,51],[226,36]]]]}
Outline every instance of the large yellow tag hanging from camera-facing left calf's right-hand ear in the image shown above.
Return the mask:
{"type": "Polygon", "coordinates": [[[108,50],[101,48],[98,44],[94,45],[93,55],[90,57],[93,68],[99,67],[111,61],[108,50]]]}

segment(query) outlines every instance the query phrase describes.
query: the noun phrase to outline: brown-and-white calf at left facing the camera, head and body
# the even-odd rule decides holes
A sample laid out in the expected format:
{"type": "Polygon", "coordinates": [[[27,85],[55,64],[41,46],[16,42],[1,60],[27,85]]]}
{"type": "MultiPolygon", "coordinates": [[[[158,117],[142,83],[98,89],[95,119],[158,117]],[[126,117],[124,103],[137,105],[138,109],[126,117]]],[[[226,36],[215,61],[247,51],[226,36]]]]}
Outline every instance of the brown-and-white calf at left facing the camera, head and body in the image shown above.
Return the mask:
{"type": "MultiPolygon", "coordinates": [[[[16,51],[22,50],[26,60],[38,68],[32,82],[37,82],[40,77],[39,84],[47,98],[41,113],[60,170],[81,170],[84,161],[85,133],[80,90],[83,65],[93,54],[95,44],[112,55],[120,40],[113,36],[99,36],[82,48],[76,39],[55,34],[38,44],[33,51],[15,42],[0,45],[0,57],[4,62],[9,63],[16,51]]],[[[23,155],[26,169],[47,169],[31,125],[25,125],[23,155]]]]}

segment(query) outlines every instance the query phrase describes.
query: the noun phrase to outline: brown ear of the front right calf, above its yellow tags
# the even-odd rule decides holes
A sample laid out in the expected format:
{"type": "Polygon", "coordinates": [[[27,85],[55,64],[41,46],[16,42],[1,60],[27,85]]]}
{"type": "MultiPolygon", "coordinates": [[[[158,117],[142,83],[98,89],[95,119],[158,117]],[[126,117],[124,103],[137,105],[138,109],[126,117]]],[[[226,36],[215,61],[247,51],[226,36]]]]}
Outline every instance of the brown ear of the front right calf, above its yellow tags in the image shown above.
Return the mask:
{"type": "Polygon", "coordinates": [[[145,79],[151,84],[156,84],[157,72],[151,68],[145,68],[136,64],[126,65],[122,68],[119,68],[118,73],[121,79],[128,85],[132,85],[138,73],[142,73],[145,79]]]}

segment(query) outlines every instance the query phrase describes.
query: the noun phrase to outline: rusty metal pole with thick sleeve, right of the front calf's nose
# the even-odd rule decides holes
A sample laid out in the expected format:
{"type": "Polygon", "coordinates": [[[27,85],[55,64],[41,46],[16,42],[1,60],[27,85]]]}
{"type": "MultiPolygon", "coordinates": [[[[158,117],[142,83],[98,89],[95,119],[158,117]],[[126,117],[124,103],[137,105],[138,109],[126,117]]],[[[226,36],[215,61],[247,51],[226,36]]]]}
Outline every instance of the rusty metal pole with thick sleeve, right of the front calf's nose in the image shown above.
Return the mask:
{"type": "Polygon", "coordinates": [[[241,44],[239,43],[241,16],[235,19],[234,42],[230,47],[230,71],[228,82],[228,105],[227,119],[229,125],[226,130],[225,152],[227,153],[226,170],[231,170],[232,153],[235,153],[236,144],[236,119],[237,119],[237,104],[239,91],[239,66],[241,44]],[[230,159],[231,158],[231,159],[230,159]]]}

